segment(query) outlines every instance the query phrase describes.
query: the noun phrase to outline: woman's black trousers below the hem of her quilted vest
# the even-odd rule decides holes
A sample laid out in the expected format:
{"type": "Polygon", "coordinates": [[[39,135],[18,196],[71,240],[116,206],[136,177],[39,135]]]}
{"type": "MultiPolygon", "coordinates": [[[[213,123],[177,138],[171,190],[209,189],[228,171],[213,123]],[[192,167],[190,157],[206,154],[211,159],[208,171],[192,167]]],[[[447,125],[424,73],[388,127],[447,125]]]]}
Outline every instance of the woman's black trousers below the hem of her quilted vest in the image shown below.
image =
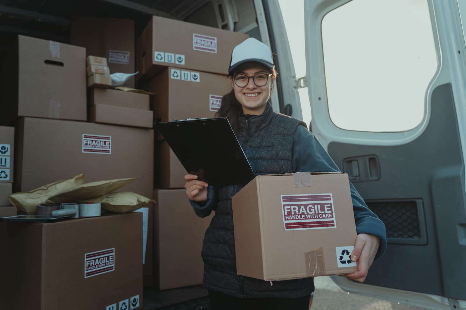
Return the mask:
{"type": "Polygon", "coordinates": [[[209,290],[211,310],[308,310],[309,298],[238,298],[209,290]]]}

